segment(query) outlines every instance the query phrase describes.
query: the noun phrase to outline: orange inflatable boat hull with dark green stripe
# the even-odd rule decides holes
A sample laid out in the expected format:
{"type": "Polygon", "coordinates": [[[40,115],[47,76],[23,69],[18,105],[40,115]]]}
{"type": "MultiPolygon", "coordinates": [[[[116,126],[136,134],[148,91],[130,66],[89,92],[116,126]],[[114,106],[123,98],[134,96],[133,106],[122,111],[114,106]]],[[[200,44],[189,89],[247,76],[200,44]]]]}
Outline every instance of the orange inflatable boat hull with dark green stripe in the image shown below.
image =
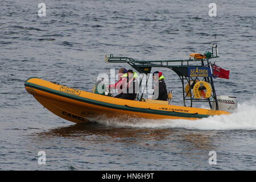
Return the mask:
{"type": "Polygon", "coordinates": [[[210,115],[230,114],[219,110],[152,104],[102,96],[36,77],[29,78],[24,85],[27,92],[49,111],[75,123],[105,118],[199,119],[210,115]]]}

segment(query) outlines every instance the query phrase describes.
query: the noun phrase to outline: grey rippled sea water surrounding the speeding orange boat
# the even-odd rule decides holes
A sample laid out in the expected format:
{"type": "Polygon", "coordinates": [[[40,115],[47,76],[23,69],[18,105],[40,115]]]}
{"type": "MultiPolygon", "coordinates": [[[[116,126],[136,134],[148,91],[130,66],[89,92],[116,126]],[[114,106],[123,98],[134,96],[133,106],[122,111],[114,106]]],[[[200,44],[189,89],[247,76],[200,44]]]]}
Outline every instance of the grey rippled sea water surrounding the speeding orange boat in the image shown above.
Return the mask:
{"type": "MultiPolygon", "coordinates": [[[[0,2],[1,170],[255,170],[255,1],[38,1],[0,2]],[[218,95],[236,96],[231,115],[187,120],[118,119],[76,125],[44,109],[24,89],[40,77],[90,91],[98,73],[138,60],[187,59],[209,51],[214,35],[230,79],[217,78],[218,95]],[[46,164],[38,164],[38,152],[46,164]],[[209,152],[217,164],[209,164],[209,152]]],[[[181,84],[162,70],[174,104],[181,84]]]]}

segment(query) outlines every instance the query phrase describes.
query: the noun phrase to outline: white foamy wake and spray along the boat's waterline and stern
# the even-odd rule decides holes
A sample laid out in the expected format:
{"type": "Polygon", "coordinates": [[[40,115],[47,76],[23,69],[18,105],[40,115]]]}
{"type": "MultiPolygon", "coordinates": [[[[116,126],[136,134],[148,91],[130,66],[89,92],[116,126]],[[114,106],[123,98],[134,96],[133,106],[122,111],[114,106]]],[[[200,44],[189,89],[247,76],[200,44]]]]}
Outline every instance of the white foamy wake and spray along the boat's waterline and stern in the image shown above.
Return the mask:
{"type": "Polygon", "coordinates": [[[256,130],[256,98],[238,104],[236,113],[197,119],[105,119],[98,123],[115,127],[184,128],[195,130],[256,130]]]}

